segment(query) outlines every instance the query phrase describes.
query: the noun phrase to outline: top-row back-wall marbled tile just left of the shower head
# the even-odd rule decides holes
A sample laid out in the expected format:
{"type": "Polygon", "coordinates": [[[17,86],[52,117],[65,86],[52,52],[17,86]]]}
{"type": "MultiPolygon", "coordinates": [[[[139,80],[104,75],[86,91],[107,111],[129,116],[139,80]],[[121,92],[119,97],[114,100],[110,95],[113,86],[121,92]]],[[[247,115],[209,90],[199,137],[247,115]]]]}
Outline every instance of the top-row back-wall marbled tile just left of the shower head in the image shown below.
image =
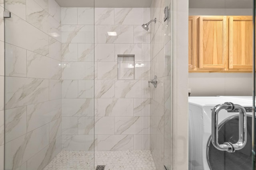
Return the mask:
{"type": "Polygon", "coordinates": [[[144,23],[143,8],[114,8],[114,11],[115,25],[141,25],[144,23]]]}

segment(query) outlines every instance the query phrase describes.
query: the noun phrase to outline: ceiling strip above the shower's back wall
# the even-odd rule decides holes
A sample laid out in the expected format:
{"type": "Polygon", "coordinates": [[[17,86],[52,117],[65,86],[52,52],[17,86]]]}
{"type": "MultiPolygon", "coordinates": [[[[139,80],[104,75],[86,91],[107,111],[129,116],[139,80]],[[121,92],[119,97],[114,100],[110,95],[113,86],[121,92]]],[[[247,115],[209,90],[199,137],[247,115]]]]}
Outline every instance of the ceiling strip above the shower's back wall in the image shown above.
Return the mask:
{"type": "Polygon", "coordinates": [[[61,7],[148,8],[152,0],[56,0],[56,2],[61,7]]]}

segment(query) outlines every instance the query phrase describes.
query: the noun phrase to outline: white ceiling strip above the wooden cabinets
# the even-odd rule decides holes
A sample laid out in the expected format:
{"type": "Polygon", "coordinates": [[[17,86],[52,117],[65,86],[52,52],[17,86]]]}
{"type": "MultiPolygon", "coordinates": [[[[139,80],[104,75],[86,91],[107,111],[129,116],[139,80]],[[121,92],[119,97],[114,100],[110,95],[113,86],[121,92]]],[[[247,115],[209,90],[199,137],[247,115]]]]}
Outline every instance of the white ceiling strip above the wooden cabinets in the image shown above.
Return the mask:
{"type": "Polygon", "coordinates": [[[253,0],[188,0],[189,8],[252,8],[253,0]]]}

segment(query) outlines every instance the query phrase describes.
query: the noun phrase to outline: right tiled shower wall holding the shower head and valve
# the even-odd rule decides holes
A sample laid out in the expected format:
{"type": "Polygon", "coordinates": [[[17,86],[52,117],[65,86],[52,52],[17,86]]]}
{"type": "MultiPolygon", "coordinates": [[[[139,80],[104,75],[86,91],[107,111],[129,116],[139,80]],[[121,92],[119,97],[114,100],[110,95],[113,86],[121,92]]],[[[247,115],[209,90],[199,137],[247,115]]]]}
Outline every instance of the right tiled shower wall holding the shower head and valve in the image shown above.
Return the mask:
{"type": "Polygon", "coordinates": [[[152,0],[151,33],[151,77],[158,77],[158,86],[150,88],[150,150],[156,169],[171,169],[172,160],[172,24],[171,0],[152,0]],[[164,21],[164,7],[168,6],[169,18],[164,21]]]}

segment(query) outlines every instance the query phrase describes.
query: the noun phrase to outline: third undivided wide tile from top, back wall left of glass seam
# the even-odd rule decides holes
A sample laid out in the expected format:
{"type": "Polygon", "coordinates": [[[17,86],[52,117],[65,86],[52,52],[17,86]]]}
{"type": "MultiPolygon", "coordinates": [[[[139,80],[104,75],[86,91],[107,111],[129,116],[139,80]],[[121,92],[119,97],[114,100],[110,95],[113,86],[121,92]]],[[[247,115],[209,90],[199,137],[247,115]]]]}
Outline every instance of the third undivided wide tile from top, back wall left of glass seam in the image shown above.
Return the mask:
{"type": "Polygon", "coordinates": [[[62,99],[62,116],[93,116],[94,99],[62,99]]]}

